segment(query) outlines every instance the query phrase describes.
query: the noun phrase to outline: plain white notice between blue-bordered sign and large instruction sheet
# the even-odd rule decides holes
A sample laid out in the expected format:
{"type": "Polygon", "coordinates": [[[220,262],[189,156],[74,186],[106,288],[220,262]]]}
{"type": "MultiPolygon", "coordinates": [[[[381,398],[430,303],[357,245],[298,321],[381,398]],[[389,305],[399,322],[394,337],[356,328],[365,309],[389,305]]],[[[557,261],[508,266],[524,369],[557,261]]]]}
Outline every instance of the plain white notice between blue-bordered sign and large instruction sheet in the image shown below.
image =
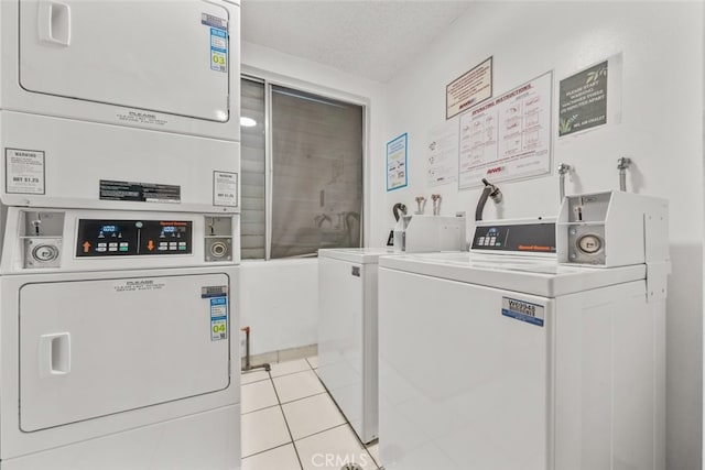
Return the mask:
{"type": "Polygon", "coordinates": [[[426,183],[441,186],[458,181],[458,120],[451,119],[429,132],[426,183]]]}

